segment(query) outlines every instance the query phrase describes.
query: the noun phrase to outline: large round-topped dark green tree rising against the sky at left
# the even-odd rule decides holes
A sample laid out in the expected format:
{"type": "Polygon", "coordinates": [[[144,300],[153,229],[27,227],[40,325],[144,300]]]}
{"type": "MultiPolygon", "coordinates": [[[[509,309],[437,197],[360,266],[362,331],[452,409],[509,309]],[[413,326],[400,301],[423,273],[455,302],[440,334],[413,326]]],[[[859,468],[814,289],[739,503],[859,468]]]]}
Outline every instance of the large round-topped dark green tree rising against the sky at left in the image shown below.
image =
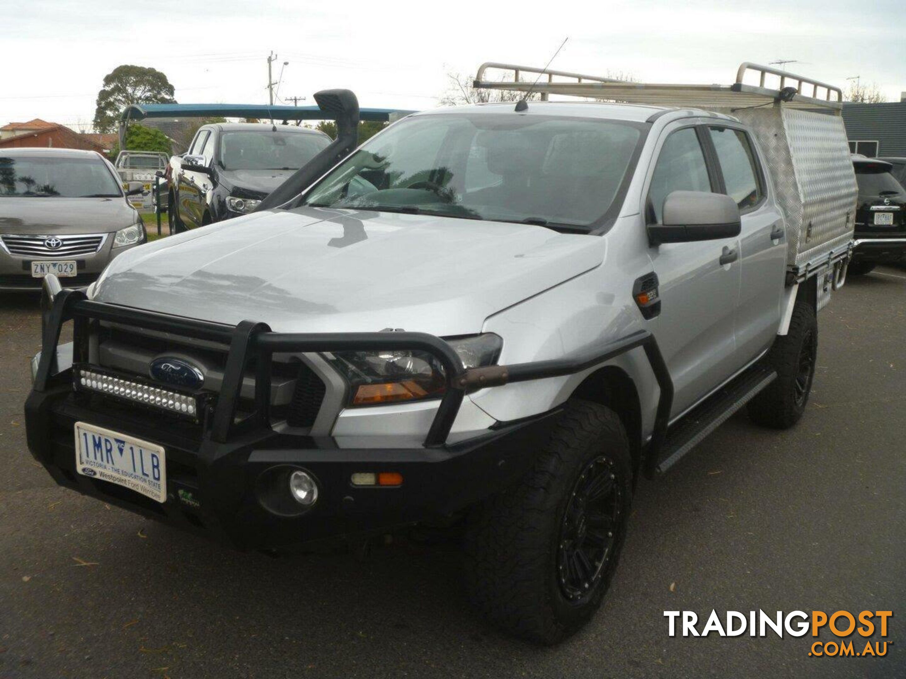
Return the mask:
{"type": "Polygon", "coordinates": [[[123,64],[104,76],[94,110],[94,131],[112,132],[130,104],[173,104],[173,85],[157,69],[123,64]]]}

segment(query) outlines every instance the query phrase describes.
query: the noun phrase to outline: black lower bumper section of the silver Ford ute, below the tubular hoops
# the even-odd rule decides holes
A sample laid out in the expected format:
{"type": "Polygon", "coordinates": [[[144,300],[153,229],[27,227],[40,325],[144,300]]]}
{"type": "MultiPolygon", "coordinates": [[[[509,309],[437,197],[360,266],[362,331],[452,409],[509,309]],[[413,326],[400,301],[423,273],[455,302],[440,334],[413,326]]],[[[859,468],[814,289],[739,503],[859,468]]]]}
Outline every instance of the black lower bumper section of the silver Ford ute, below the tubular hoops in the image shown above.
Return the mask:
{"type": "Polygon", "coordinates": [[[537,416],[457,445],[351,449],[270,430],[221,444],[165,416],[98,407],[97,397],[65,384],[33,391],[25,404],[29,449],[57,483],[240,550],[288,548],[448,516],[525,473],[555,417],[537,416]],[[76,473],[73,427],[80,421],[164,445],[166,502],[76,473]],[[292,517],[260,500],[267,490],[261,480],[285,465],[304,469],[319,485],[318,502],[292,517]],[[362,472],[400,473],[403,483],[353,486],[352,473],[362,472]]]}

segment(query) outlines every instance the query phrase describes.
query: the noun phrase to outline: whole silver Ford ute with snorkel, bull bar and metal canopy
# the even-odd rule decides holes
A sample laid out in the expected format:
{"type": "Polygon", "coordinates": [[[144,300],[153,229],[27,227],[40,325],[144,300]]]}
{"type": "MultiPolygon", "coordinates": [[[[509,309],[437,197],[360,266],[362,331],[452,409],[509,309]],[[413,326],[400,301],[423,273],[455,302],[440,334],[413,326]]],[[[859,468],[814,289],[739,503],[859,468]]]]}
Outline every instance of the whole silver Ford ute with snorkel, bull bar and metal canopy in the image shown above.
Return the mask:
{"type": "Polygon", "coordinates": [[[339,138],[255,213],[123,253],[87,293],[48,282],[35,458],[241,549],[458,527],[487,617],[543,644],[583,626],[642,473],[742,406],[803,415],[852,252],[842,97],[753,64],[476,84],[543,100],[352,150],[354,96],[319,92],[339,138]]]}

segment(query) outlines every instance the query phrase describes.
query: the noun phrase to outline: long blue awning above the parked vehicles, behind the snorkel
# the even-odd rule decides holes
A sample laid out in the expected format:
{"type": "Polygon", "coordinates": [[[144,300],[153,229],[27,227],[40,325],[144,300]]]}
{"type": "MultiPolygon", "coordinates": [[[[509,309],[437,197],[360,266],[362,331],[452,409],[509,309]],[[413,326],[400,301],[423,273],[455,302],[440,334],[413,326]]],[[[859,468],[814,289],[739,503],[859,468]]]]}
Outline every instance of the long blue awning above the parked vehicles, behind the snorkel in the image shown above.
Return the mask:
{"type": "MultiPolygon", "coordinates": [[[[384,122],[415,113],[414,110],[359,109],[359,120],[384,122]]],[[[145,118],[256,118],[259,120],[330,120],[317,106],[268,106],[266,104],[131,104],[120,120],[145,118]]]]}

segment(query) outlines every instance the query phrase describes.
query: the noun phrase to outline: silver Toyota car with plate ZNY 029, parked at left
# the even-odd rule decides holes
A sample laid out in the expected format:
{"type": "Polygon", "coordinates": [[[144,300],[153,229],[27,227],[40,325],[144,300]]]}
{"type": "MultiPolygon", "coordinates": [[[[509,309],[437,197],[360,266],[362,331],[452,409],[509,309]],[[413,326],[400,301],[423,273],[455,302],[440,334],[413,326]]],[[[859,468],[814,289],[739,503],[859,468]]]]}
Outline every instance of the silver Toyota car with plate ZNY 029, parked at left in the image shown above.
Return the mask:
{"type": "Polygon", "coordinates": [[[147,240],[110,162],[71,148],[0,150],[0,291],[40,290],[53,273],[92,282],[111,259],[147,240]]]}

